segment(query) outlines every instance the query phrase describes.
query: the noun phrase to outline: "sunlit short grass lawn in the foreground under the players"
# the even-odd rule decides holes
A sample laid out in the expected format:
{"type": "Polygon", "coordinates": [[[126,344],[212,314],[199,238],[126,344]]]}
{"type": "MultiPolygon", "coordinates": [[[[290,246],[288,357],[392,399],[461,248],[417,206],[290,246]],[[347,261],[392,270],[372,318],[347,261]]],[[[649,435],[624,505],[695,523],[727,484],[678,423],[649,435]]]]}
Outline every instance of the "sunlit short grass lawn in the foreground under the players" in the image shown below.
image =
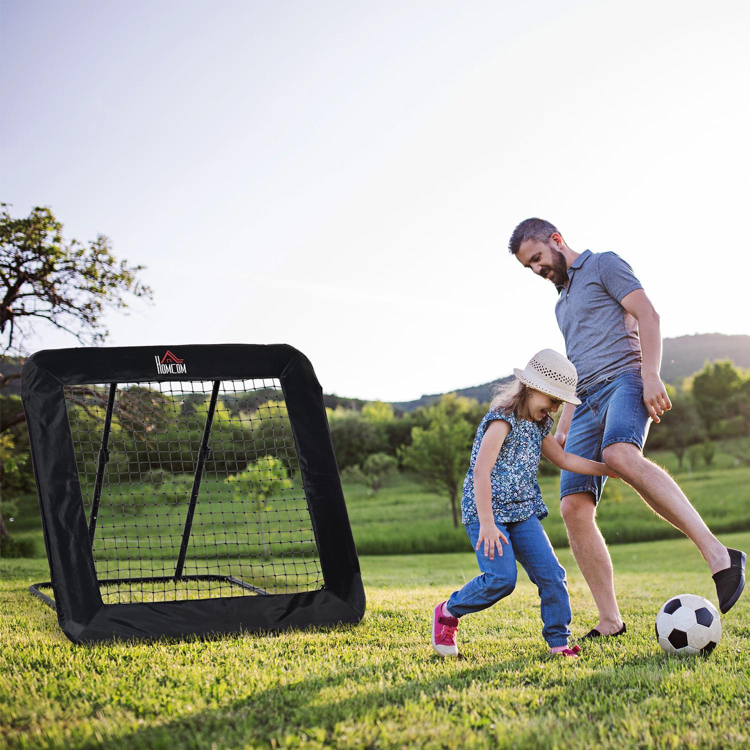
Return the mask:
{"type": "MultiPolygon", "coordinates": [[[[723,541],[750,550],[750,533],[723,541]]],[[[750,744],[750,591],[707,658],[667,657],[658,607],[715,601],[684,540],[612,547],[628,635],[550,659],[538,598],[463,619],[462,658],[429,645],[431,607],[476,572],[470,552],[365,556],[354,627],[189,643],[74,646],[26,586],[44,559],[2,563],[0,712],[8,748],[739,748],[750,744]]],[[[570,553],[574,633],[595,607],[570,553]]]]}

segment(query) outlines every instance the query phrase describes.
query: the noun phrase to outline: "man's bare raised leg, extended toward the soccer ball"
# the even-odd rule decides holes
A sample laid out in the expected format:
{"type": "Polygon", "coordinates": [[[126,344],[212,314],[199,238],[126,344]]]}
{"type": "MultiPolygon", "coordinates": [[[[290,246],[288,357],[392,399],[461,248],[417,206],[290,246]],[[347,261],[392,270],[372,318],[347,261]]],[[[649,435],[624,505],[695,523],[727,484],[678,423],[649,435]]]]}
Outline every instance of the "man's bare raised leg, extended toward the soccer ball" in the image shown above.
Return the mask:
{"type": "MultiPolygon", "coordinates": [[[[612,443],[602,460],[614,469],[662,518],[676,526],[700,550],[712,573],[728,568],[729,553],[708,526],[676,481],[640,452],[633,443],[612,443]]],[[[577,558],[576,558],[577,559],[577,558]]]]}

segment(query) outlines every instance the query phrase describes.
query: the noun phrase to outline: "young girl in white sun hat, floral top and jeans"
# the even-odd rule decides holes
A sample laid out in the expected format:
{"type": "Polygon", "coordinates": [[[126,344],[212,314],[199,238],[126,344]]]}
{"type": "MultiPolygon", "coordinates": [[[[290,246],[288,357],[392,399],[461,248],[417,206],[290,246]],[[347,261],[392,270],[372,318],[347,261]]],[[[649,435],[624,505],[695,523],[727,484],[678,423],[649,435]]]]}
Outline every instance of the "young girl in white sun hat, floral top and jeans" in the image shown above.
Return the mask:
{"type": "Polygon", "coordinates": [[[492,606],[514,589],[516,560],[538,588],[541,633],[550,653],[577,658],[580,651],[578,646],[568,648],[571,610],[565,568],[539,522],[549,512],[536,479],[539,455],[571,472],[617,475],[604,463],[566,453],[550,434],[550,413],[563,401],[580,404],[575,397],[577,373],[568,359],[545,349],[514,374],[516,380],[493,398],[476,431],[463,482],[461,520],[481,575],[434,608],[432,646],[441,656],[458,655],[460,617],[492,606]]]}

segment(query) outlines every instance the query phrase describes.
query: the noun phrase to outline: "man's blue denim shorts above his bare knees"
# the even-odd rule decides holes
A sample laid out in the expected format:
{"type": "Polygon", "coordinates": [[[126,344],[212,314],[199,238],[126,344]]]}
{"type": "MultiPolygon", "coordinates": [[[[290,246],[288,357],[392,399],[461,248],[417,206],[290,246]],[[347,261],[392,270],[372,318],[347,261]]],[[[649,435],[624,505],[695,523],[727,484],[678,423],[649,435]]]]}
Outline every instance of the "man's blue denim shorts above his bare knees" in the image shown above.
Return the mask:
{"type": "MultiPolygon", "coordinates": [[[[643,450],[651,427],[651,416],[643,404],[643,378],[640,368],[626,370],[578,395],[573,419],[565,440],[568,453],[601,461],[601,454],[612,443],[633,443],[643,450]]],[[[606,476],[586,476],[562,469],[560,499],[574,492],[592,492],[601,499],[606,476]]]]}

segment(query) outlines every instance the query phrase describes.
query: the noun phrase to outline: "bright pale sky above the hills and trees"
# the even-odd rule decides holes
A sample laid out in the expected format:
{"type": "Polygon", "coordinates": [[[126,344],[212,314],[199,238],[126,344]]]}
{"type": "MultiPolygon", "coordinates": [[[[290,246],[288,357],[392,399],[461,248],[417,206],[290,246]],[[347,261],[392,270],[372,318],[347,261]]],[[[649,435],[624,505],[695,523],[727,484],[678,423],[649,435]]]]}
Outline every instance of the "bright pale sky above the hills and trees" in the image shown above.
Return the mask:
{"type": "Polygon", "coordinates": [[[110,345],[284,342],[386,401],[484,383],[565,352],[508,254],[529,216],[624,257],[664,337],[750,333],[746,1],[0,9],[2,199],[148,267],[110,345]]]}

